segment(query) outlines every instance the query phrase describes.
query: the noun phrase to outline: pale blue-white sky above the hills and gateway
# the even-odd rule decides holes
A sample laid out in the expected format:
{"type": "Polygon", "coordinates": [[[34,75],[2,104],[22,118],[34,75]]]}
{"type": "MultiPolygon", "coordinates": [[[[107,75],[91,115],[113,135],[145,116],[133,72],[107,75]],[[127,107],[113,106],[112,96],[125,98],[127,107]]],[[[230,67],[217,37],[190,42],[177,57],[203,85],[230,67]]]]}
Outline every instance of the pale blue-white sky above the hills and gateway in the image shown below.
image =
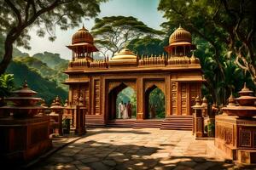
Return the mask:
{"type": "MultiPolygon", "coordinates": [[[[163,13],[157,10],[159,0],[109,0],[107,3],[101,4],[101,13],[97,17],[104,16],[124,15],[134,16],[138,20],[143,21],[149,27],[160,29],[160,24],[165,21],[163,13]]],[[[94,19],[84,20],[80,27],[84,27],[89,31],[94,25],[94,19]]],[[[71,43],[73,34],[79,30],[80,27],[61,31],[56,28],[56,39],[54,42],[48,40],[47,34],[45,37],[38,37],[36,35],[36,28],[30,30],[32,39],[30,40],[31,49],[19,48],[22,52],[30,55],[37,53],[50,53],[61,54],[61,58],[71,59],[71,51],[66,47],[71,43]]]]}

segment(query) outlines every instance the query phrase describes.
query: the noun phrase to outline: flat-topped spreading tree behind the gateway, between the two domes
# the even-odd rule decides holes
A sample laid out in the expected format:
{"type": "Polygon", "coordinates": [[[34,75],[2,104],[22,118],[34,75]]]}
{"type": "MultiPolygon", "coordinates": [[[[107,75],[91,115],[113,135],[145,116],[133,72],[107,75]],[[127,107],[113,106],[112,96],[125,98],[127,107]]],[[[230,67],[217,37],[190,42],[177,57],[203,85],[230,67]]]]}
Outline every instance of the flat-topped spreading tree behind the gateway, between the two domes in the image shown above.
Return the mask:
{"type": "Polygon", "coordinates": [[[110,16],[102,19],[96,18],[91,33],[96,37],[96,44],[106,57],[108,53],[115,54],[132,39],[163,34],[162,31],[149,28],[142,21],[132,16],[110,16]]]}

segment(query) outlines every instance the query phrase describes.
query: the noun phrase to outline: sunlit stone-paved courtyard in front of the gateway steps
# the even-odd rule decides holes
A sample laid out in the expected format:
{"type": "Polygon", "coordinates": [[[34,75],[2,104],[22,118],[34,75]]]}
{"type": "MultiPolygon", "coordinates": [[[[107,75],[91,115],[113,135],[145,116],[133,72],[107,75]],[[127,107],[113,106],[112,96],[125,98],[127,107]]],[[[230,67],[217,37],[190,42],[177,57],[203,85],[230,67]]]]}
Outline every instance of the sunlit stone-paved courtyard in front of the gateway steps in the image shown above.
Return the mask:
{"type": "Polygon", "coordinates": [[[58,150],[35,169],[233,169],[213,140],[190,131],[96,128],[58,150]]]}

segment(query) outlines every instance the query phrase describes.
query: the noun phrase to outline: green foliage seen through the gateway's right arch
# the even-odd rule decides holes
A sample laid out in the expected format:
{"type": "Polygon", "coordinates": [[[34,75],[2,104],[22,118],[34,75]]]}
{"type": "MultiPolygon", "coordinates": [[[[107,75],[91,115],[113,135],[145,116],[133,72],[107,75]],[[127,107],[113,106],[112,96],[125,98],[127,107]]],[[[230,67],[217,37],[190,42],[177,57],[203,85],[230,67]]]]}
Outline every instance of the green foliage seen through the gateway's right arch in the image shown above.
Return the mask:
{"type": "Polygon", "coordinates": [[[160,88],[154,88],[154,90],[149,94],[148,111],[150,111],[151,105],[154,105],[156,118],[166,117],[165,94],[160,90],[160,88]]]}

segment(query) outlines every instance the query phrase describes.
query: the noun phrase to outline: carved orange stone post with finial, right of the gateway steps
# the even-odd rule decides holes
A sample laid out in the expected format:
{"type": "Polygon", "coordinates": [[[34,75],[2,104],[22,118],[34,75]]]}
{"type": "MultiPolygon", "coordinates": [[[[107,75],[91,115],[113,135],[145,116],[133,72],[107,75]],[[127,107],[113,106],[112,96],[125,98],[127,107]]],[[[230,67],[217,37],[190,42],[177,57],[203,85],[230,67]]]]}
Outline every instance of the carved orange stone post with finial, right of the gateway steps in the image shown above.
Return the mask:
{"type": "Polygon", "coordinates": [[[204,136],[204,118],[202,116],[201,99],[199,96],[195,99],[195,105],[192,106],[193,113],[193,134],[195,138],[201,138],[204,136]]]}

